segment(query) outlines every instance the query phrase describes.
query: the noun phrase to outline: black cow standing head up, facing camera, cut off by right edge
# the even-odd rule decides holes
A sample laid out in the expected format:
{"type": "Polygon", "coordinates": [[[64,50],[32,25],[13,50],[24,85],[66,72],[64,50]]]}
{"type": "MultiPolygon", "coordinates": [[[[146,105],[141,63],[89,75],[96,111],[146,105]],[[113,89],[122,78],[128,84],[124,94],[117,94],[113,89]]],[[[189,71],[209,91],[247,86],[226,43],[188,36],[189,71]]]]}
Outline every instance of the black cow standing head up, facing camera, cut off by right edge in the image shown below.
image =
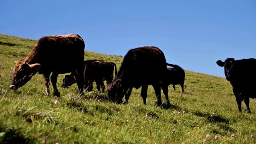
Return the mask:
{"type": "Polygon", "coordinates": [[[250,113],[249,98],[256,98],[256,59],[227,58],[224,62],[216,62],[224,67],[226,79],[231,83],[237,101],[238,110],[241,109],[241,101],[246,104],[247,113],[250,113]]]}

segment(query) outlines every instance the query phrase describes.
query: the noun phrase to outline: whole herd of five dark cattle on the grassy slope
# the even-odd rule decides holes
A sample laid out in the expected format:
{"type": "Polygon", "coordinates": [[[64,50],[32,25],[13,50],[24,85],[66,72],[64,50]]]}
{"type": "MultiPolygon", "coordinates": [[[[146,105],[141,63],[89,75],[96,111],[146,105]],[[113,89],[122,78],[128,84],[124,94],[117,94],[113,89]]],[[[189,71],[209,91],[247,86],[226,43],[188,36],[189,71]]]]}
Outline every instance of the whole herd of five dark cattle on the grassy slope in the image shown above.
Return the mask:
{"type": "MultiPolygon", "coordinates": [[[[24,60],[18,60],[13,68],[13,79],[10,89],[16,91],[39,72],[45,79],[46,94],[49,95],[50,74],[53,95],[59,97],[57,89],[58,74],[70,73],[63,79],[63,88],[77,83],[78,90],[92,91],[92,83],[96,82],[98,91],[104,92],[107,83],[109,101],[127,103],[132,88],[141,87],[141,97],[146,105],[147,88],[152,85],[157,104],[162,105],[161,89],[169,105],[168,86],[180,85],[184,92],[185,71],[178,65],[168,64],[164,53],[155,46],[144,46],[131,49],[125,55],[117,73],[116,64],[102,59],[84,61],[85,43],[78,34],[45,36],[38,40],[36,46],[24,60]],[[171,68],[167,68],[170,66],[171,68]],[[115,79],[113,73],[115,70],[115,79]],[[123,100],[125,96],[125,99],[123,100]]],[[[225,62],[217,61],[224,67],[225,76],[233,86],[238,109],[241,101],[246,104],[250,113],[249,98],[256,98],[256,59],[235,60],[228,58],[225,62]]]]}

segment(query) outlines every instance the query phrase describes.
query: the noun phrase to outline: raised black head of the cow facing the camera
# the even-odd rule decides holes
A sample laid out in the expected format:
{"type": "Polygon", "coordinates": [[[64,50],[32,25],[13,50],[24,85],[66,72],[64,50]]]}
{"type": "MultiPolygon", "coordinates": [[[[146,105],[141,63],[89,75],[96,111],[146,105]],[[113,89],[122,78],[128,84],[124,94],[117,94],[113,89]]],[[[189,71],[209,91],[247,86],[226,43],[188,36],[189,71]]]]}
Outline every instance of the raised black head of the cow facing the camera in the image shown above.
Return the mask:
{"type": "Polygon", "coordinates": [[[219,60],[219,61],[217,61],[216,63],[217,63],[217,65],[219,65],[220,67],[224,67],[226,79],[227,79],[228,81],[231,80],[231,78],[232,78],[231,70],[232,70],[232,67],[233,67],[234,64],[235,64],[235,59],[234,59],[234,58],[227,58],[227,59],[225,60],[225,62],[219,60]]]}

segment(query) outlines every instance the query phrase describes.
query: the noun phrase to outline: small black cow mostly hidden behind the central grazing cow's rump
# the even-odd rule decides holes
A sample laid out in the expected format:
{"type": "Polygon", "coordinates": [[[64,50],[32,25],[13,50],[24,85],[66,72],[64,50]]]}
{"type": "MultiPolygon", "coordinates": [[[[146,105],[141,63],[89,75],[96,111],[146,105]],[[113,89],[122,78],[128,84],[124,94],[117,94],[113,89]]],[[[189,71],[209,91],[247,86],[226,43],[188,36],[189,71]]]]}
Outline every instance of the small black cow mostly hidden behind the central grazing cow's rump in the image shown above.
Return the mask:
{"type": "Polygon", "coordinates": [[[185,82],[185,71],[179,66],[174,64],[169,64],[173,68],[167,69],[167,83],[168,85],[173,85],[175,91],[175,85],[180,85],[182,87],[182,93],[184,92],[184,82],[185,82]]]}

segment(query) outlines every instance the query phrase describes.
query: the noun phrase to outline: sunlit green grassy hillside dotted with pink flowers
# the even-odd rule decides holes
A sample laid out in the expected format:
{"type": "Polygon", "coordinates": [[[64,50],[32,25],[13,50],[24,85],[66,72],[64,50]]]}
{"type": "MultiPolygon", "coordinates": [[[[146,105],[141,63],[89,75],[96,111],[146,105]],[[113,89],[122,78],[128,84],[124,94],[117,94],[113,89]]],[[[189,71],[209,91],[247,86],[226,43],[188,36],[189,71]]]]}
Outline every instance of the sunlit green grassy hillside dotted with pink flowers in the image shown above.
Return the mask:
{"type": "MultiPolygon", "coordinates": [[[[14,93],[9,89],[14,61],[24,59],[35,44],[35,40],[0,34],[0,143],[199,144],[204,139],[213,144],[256,143],[256,138],[250,138],[256,136],[255,99],[250,101],[251,114],[239,113],[232,87],[221,77],[186,71],[186,94],[180,95],[179,86],[176,91],[169,86],[171,108],[155,105],[152,86],[146,106],[140,89],[133,89],[127,105],[107,102],[106,94],[98,94],[95,87],[93,93],[77,98],[76,85],[60,87],[64,74],[58,77],[58,105],[56,98],[46,96],[39,74],[14,93]]],[[[118,68],[122,62],[121,56],[86,51],[85,59],[95,58],[115,62],[118,68]]],[[[244,103],[242,108],[246,109],[244,103]]]]}

